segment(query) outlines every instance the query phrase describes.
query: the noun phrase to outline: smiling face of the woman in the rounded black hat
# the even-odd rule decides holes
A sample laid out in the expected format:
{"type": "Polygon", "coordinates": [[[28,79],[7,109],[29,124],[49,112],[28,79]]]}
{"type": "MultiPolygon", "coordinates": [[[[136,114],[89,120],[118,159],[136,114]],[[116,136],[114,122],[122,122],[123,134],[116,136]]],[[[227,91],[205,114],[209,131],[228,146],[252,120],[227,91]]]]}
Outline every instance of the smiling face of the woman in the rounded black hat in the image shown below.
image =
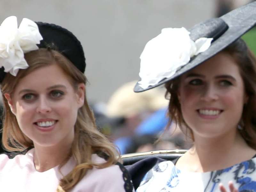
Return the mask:
{"type": "Polygon", "coordinates": [[[74,90],[68,76],[52,64],[20,79],[13,95],[5,94],[21,131],[34,145],[67,145],[74,139],[77,111],[84,104],[84,84],[74,90]]]}

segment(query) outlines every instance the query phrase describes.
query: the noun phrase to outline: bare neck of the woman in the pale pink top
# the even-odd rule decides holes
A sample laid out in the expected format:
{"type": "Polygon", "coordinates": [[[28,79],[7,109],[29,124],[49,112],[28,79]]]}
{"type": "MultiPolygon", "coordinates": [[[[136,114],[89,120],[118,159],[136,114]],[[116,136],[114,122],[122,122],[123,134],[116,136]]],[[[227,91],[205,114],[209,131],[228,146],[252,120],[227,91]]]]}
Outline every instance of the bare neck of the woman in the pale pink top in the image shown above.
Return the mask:
{"type": "Polygon", "coordinates": [[[44,147],[34,143],[34,146],[35,168],[38,172],[44,172],[63,163],[68,158],[72,142],[50,147],[44,147]]]}

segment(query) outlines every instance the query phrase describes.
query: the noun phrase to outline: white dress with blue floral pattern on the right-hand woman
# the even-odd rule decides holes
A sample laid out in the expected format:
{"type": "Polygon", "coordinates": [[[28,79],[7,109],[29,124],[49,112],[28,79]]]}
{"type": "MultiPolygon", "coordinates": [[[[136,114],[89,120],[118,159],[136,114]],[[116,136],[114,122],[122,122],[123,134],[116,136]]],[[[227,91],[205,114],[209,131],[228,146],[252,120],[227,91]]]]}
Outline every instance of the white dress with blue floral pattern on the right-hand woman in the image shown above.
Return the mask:
{"type": "Polygon", "coordinates": [[[256,192],[256,157],[212,172],[182,172],[172,161],[156,164],[143,178],[136,192],[219,192],[232,180],[239,192],[256,192]]]}

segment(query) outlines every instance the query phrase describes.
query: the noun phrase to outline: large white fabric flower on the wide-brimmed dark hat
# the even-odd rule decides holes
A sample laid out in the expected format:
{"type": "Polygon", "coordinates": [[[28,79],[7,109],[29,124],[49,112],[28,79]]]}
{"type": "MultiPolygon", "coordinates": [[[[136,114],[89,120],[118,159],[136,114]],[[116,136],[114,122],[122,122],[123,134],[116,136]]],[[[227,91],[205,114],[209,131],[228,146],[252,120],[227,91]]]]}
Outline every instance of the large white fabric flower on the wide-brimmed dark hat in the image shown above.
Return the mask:
{"type": "Polygon", "coordinates": [[[163,28],[158,36],[146,44],[140,55],[141,81],[138,83],[141,88],[146,89],[173,76],[191,57],[210,47],[212,38],[203,37],[194,42],[189,34],[183,27],[163,28]]]}

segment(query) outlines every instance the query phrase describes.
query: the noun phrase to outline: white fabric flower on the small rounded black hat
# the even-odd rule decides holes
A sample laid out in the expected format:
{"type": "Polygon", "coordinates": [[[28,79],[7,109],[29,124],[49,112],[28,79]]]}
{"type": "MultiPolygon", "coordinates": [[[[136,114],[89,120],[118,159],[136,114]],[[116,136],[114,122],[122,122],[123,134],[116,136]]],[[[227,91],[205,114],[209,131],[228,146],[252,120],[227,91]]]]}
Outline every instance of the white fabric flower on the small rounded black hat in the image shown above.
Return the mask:
{"type": "Polygon", "coordinates": [[[13,76],[28,68],[24,53],[37,50],[42,39],[34,21],[23,18],[18,28],[16,16],[7,17],[0,26],[0,68],[13,76]]]}

